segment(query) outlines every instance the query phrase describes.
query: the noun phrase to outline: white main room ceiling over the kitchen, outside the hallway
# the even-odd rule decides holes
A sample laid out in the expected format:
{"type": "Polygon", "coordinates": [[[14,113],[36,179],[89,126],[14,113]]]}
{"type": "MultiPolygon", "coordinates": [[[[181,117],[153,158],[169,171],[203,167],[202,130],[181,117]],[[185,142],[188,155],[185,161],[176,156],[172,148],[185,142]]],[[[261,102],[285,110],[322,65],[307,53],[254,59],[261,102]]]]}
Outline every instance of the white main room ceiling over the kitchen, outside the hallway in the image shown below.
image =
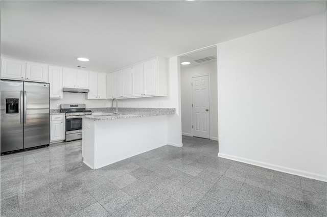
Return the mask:
{"type": "Polygon", "coordinates": [[[1,54],[108,72],[325,10],[325,1],[1,1],[1,54]]]}

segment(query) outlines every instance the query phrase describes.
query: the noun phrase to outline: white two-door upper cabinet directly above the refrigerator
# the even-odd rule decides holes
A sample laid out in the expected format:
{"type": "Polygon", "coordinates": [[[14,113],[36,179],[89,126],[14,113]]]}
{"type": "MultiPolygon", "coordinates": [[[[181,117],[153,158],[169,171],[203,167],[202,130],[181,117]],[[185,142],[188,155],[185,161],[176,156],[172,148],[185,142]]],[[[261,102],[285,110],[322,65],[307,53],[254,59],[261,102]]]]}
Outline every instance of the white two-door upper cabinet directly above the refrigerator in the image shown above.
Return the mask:
{"type": "Polygon", "coordinates": [[[49,65],[2,58],[1,78],[48,83],[49,65]]]}

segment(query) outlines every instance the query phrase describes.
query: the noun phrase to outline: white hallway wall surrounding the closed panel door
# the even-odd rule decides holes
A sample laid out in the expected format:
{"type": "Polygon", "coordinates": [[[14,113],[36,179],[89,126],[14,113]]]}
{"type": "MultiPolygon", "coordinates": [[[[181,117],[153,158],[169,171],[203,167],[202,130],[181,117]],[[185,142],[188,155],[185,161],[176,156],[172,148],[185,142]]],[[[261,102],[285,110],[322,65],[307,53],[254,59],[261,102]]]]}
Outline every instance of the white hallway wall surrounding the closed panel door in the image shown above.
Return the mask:
{"type": "Polygon", "coordinates": [[[217,62],[181,68],[181,118],[183,135],[192,135],[192,77],[210,78],[210,139],[218,140],[217,62]]]}

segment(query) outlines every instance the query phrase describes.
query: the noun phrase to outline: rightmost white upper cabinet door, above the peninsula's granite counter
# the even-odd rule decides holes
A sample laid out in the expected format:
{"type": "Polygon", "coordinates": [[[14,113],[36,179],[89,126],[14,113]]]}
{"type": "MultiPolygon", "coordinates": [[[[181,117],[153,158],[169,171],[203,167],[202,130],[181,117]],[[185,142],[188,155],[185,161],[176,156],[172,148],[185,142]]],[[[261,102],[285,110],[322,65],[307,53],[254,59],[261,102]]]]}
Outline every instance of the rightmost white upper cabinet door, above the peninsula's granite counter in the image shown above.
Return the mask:
{"type": "Polygon", "coordinates": [[[144,95],[158,95],[158,65],[157,59],[144,62],[144,95]]]}

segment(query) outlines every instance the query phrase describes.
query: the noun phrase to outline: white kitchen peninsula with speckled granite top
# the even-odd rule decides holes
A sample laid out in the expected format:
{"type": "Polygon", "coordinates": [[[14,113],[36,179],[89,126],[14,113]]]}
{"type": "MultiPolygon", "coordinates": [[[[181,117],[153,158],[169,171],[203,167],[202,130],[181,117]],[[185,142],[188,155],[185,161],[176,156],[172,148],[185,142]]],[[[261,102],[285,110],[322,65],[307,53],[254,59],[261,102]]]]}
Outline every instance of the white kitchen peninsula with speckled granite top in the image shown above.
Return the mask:
{"type": "Polygon", "coordinates": [[[167,145],[167,115],[172,114],[175,108],[126,108],[118,117],[103,112],[84,117],[84,164],[99,169],[167,145]]]}

